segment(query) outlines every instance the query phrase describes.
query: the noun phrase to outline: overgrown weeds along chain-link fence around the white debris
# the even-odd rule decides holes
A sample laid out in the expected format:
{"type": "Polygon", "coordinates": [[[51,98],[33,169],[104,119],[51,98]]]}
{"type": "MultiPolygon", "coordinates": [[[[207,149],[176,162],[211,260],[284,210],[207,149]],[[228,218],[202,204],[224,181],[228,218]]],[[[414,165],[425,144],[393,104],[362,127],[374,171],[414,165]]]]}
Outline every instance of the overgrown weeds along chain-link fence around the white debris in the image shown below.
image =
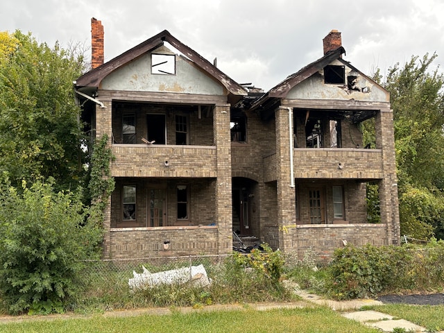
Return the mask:
{"type": "MultiPolygon", "coordinates": [[[[264,261],[266,260],[263,259],[264,261]]],[[[204,260],[205,261],[205,260],[204,260]]],[[[189,266],[199,262],[177,264],[189,266]]],[[[94,263],[95,264],[95,263],[94,263]]],[[[262,274],[262,271],[245,269],[244,262],[228,257],[225,262],[204,262],[212,280],[209,287],[192,284],[163,284],[132,291],[128,279],[133,277],[133,268],[115,267],[112,262],[85,271],[85,286],[76,296],[67,301],[66,309],[77,313],[94,313],[111,309],[135,309],[141,307],[203,307],[211,304],[234,302],[274,302],[298,299],[292,291],[282,287],[280,281],[262,274]],[[88,273],[89,272],[89,273],[88,273]]],[[[142,266],[142,265],[141,265],[142,266]]],[[[144,264],[155,273],[171,269],[168,266],[144,264]]],[[[262,268],[262,266],[261,266],[262,268]]],[[[142,271],[141,268],[138,271],[142,271]]]]}

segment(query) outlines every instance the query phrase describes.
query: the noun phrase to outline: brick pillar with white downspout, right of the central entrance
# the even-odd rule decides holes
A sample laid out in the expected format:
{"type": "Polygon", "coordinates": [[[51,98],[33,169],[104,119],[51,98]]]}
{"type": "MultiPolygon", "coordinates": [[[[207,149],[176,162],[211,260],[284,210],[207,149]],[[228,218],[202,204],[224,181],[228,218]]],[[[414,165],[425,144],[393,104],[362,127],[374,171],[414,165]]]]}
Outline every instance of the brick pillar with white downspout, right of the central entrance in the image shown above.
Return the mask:
{"type": "MultiPolygon", "coordinates": [[[[275,119],[279,248],[286,251],[293,248],[293,239],[296,237],[295,188],[291,187],[290,171],[289,109],[278,108],[275,111],[275,119]]],[[[293,133],[291,133],[291,137],[293,137],[293,133]]]]}

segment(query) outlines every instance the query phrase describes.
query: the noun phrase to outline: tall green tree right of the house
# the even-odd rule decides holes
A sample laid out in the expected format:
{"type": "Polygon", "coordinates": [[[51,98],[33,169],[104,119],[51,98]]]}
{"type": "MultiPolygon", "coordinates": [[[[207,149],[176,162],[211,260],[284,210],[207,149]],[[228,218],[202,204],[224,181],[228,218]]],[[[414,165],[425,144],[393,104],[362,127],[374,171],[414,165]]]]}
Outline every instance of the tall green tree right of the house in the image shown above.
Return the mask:
{"type": "Polygon", "coordinates": [[[401,232],[419,239],[444,239],[444,77],[435,59],[412,56],[381,83],[394,114],[401,232]]]}

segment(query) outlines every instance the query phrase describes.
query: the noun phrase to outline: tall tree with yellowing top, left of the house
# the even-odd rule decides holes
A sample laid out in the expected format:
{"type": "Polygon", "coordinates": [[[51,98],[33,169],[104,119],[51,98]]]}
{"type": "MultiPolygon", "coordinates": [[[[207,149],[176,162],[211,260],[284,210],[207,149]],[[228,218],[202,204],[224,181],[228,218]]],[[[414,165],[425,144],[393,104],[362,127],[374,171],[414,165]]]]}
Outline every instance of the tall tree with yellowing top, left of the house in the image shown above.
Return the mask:
{"type": "Polygon", "coordinates": [[[83,180],[80,108],[72,81],[82,54],[38,44],[31,33],[0,33],[0,171],[14,185],[53,177],[58,189],[83,180]]]}

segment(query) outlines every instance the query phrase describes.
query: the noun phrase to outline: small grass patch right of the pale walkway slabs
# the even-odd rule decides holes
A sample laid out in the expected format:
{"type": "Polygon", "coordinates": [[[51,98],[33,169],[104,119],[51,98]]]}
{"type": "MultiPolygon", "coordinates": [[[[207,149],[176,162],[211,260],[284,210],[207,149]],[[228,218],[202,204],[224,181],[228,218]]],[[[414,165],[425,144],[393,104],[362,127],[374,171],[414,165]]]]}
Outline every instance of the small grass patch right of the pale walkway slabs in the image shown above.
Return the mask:
{"type": "Polygon", "coordinates": [[[365,307],[411,321],[427,329],[427,332],[444,330],[444,305],[387,304],[365,307]]]}

